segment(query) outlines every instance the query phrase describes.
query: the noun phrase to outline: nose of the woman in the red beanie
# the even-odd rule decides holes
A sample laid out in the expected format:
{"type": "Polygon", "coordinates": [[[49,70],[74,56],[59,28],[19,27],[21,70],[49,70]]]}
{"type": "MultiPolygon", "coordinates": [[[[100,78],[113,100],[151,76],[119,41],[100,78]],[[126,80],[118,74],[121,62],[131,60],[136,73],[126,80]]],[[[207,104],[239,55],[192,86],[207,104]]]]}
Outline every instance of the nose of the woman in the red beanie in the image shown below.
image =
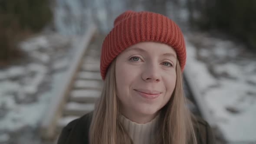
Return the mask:
{"type": "Polygon", "coordinates": [[[161,71],[159,65],[157,64],[148,64],[144,67],[142,79],[146,82],[160,82],[161,81],[161,71]]]}

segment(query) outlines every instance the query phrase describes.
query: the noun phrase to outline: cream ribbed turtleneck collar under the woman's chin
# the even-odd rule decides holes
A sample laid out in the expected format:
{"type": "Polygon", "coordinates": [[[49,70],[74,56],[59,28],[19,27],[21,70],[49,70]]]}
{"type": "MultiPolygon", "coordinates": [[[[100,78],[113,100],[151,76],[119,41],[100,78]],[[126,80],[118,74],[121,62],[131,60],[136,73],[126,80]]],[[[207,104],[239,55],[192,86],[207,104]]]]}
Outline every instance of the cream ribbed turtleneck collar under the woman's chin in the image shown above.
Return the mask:
{"type": "Polygon", "coordinates": [[[145,124],[138,124],[123,115],[119,116],[119,120],[134,144],[151,144],[157,135],[159,115],[145,124]]]}

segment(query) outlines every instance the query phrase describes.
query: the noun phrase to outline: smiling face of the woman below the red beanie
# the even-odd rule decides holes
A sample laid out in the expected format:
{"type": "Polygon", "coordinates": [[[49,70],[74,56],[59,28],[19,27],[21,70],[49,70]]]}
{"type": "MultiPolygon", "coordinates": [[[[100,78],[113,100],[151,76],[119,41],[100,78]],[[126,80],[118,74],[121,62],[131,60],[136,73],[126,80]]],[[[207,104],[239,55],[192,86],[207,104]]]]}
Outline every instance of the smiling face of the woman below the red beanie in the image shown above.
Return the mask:
{"type": "Polygon", "coordinates": [[[116,59],[117,96],[123,115],[155,115],[171,98],[176,83],[176,52],[163,43],[137,43],[116,59]]]}

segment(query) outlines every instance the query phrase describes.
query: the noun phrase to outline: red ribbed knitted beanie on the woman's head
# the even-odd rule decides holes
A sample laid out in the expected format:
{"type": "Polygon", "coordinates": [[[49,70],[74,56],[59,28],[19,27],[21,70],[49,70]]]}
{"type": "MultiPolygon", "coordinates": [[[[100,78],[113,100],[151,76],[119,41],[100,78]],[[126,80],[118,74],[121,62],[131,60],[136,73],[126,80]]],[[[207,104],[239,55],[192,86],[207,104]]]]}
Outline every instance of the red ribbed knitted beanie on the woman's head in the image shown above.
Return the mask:
{"type": "Polygon", "coordinates": [[[100,60],[102,79],[108,66],[123,50],[139,42],[159,42],[171,46],[183,71],[186,49],[181,29],[174,21],[158,13],[127,10],[114,21],[114,28],[105,37],[100,60]]]}

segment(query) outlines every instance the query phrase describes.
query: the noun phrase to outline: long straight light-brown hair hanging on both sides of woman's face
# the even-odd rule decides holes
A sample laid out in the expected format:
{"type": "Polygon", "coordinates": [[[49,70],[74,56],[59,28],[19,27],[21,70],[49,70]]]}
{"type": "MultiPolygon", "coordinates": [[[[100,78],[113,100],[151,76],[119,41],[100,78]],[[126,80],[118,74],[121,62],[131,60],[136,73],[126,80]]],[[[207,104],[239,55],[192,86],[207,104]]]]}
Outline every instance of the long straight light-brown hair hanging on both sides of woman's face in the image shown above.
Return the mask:
{"type": "MultiPolygon", "coordinates": [[[[89,131],[90,144],[133,144],[118,120],[120,101],[116,95],[114,59],[105,77],[102,95],[95,104],[89,131]]],[[[187,109],[183,93],[182,72],[177,61],[176,86],[170,100],[160,110],[160,122],[155,144],[197,144],[193,115],[187,109]]]]}

